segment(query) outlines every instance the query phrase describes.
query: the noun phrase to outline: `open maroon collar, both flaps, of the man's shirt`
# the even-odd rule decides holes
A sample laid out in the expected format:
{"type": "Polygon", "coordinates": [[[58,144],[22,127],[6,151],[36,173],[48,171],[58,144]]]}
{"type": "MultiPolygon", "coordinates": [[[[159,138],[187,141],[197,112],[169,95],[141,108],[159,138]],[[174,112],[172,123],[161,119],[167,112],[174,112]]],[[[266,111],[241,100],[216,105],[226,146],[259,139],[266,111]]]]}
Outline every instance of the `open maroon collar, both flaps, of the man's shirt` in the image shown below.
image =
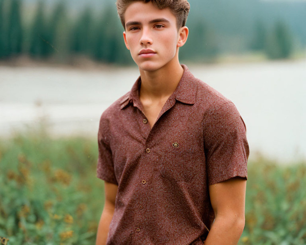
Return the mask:
{"type": "MultiPolygon", "coordinates": [[[[177,88],[173,94],[169,97],[169,100],[175,98],[176,100],[185,104],[194,104],[196,102],[197,85],[194,82],[196,78],[189,71],[188,67],[184,64],[181,65],[184,69],[181,80],[179,81],[177,88]]],[[[139,89],[141,84],[141,78],[138,77],[132,89],[127,93],[120,101],[120,108],[123,109],[130,103],[134,103],[134,106],[138,106],[139,101],[139,89]]]]}

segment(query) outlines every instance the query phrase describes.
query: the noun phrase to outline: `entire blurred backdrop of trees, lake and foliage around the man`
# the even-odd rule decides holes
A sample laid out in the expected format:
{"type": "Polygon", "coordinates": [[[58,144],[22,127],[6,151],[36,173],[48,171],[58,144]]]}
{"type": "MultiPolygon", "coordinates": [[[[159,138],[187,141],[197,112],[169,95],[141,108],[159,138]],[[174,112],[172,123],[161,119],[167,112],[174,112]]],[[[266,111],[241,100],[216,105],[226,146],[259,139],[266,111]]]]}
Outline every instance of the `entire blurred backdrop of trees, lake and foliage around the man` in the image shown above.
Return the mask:
{"type": "MultiPolygon", "coordinates": [[[[0,237],[93,244],[102,112],[139,71],[114,0],[0,0],[0,237]]],[[[306,1],[190,0],[180,61],[250,145],[241,244],[306,244],[306,1]]]]}

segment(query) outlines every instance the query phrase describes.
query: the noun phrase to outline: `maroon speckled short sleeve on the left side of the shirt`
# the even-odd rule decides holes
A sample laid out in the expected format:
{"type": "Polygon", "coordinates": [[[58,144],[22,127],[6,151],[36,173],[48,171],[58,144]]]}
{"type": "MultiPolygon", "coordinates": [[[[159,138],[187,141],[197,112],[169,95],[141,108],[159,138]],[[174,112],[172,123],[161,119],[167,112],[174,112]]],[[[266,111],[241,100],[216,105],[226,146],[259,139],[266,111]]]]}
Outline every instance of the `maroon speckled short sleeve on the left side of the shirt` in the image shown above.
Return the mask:
{"type": "Polygon", "coordinates": [[[97,164],[97,177],[103,179],[106,182],[110,182],[118,185],[115,171],[112,152],[109,144],[109,137],[107,129],[107,120],[100,119],[99,131],[98,131],[98,164],[97,164]]]}

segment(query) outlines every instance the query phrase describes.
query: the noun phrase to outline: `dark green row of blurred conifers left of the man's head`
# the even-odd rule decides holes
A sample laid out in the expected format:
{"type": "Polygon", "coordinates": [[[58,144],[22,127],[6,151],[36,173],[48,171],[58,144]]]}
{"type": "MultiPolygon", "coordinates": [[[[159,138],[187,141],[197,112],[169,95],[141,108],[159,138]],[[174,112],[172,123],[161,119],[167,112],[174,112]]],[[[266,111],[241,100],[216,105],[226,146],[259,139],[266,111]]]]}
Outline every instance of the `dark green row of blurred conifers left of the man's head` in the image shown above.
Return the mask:
{"type": "Polygon", "coordinates": [[[2,59],[28,54],[33,58],[54,56],[63,61],[71,55],[85,55],[103,62],[131,61],[112,7],[99,17],[90,8],[71,17],[64,2],[47,14],[44,2],[39,1],[28,23],[21,20],[21,8],[20,0],[0,0],[2,59]]]}

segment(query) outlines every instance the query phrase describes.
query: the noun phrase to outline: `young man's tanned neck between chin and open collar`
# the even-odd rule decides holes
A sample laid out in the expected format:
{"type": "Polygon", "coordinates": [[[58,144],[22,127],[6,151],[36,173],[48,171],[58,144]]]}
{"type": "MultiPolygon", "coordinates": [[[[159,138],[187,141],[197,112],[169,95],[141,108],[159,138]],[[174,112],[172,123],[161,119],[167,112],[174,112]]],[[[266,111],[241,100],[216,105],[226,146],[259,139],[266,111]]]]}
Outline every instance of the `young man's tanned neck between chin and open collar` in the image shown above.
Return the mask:
{"type": "Polygon", "coordinates": [[[178,59],[153,72],[140,70],[140,100],[163,100],[170,97],[183,72],[178,59]]]}

